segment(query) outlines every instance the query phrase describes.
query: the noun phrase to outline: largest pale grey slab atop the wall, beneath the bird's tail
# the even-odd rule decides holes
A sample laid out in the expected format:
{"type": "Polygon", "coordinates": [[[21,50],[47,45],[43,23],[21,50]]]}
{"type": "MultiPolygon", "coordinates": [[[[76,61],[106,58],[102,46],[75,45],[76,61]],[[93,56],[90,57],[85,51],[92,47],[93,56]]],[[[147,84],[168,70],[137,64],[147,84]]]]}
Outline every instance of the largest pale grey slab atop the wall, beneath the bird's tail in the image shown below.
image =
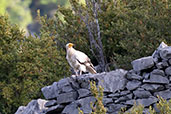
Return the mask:
{"type": "Polygon", "coordinates": [[[94,75],[81,75],[77,77],[77,82],[82,89],[90,89],[90,81],[95,81],[97,86],[104,88],[104,93],[114,93],[125,88],[127,82],[126,73],[127,71],[123,69],[117,69],[94,75]]]}

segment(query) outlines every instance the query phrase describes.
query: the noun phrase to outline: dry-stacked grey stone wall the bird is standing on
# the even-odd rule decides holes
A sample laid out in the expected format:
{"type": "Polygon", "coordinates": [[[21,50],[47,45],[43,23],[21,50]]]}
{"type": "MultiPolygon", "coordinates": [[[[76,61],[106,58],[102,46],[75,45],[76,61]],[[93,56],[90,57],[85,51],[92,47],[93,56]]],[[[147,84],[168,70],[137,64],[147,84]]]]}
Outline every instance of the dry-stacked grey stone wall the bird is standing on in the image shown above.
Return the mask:
{"type": "Polygon", "coordinates": [[[133,69],[79,77],[68,77],[42,88],[46,100],[31,101],[18,108],[16,114],[84,114],[91,112],[90,81],[104,88],[103,104],[107,114],[117,114],[121,107],[129,111],[134,103],[143,104],[145,113],[151,105],[156,110],[157,96],[171,98],[171,47],[161,43],[152,56],[132,61],[133,69]]]}

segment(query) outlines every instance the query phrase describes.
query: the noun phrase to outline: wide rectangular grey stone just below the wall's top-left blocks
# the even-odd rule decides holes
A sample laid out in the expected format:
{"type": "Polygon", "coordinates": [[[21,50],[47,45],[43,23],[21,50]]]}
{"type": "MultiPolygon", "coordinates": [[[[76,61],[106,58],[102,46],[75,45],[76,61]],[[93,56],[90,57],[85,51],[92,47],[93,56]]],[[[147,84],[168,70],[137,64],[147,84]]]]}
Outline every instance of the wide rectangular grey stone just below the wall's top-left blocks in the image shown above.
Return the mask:
{"type": "Polygon", "coordinates": [[[75,101],[78,98],[77,92],[69,92],[69,93],[62,93],[59,96],[57,96],[57,103],[70,103],[75,101]]]}

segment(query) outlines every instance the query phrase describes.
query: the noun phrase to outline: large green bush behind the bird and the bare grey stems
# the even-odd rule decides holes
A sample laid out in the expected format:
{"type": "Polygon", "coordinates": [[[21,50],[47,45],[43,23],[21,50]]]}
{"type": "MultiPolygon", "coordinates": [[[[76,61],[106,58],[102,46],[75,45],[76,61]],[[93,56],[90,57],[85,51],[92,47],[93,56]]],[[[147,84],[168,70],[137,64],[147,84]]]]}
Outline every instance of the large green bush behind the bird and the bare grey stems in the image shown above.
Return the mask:
{"type": "MultiPolygon", "coordinates": [[[[62,48],[67,42],[73,42],[77,49],[86,52],[97,65],[90,47],[89,32],[82,20],[89,15],[89,21],[93,21],[93,8],[91,5],[75,3],[78,1],[70,0],[74,2],[71,7],[75,10],[84,9],[80,12],[82,17],[71,8],[58,8],[53,19],[43,20],[42,32],[54,36],[62,48]]],[[[98,4],[104,55],[107,62],[113,65],[112,69],[130,69],[131,61],[151,55],[162,41],[171,44],[171,1],[103,0],[98,4]]],[[[95,31],[92,33],[97,36],[95,31]]]]}

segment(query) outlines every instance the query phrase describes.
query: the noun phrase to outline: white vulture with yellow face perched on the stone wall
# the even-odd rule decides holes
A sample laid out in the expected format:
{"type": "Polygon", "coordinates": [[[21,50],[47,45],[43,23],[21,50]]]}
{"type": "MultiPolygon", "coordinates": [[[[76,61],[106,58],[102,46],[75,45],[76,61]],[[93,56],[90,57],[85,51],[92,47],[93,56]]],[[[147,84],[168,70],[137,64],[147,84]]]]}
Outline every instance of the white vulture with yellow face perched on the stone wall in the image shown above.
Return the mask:
{"type": "Polygon", "coordinates": [[[97,72],[89,57],[85,53],[74,49],[73,45],[73,43],[66,44],[66,59],[69,65],[74,69],[76,76],[78,76],[79,71],[79,75],[82,74],[82,71],[96,74],[97,72]]]}

